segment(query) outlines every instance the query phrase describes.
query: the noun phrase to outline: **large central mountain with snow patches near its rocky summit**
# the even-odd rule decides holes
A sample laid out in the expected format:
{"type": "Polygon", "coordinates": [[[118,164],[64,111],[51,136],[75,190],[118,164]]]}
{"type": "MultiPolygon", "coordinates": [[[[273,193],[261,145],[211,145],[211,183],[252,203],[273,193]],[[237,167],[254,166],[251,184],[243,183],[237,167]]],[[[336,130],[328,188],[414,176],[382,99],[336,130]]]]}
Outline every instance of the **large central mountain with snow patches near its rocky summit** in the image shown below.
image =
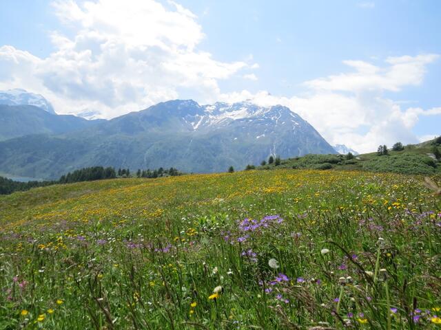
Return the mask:
{"type": "Polygon", "coordinates": [[[54,178],[100,165],[206,173],[308,153],[336,152],[287,107],[172,100],[82,131],[1,142],[0,171],[54,178]]]}

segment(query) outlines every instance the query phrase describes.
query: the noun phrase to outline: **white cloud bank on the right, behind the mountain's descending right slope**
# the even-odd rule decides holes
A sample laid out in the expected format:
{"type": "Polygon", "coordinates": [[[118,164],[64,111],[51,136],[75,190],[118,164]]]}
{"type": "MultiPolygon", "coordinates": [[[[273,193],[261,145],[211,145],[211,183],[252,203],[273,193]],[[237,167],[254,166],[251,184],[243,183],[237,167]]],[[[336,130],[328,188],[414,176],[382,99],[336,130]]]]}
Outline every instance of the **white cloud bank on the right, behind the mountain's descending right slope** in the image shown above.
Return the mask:
{"type": "Polygon", "coordinates": [[[280,97],[267,91],[242,91],[222,94],[220,98],[285,105],[311,123],[330,144],[346,144],[362,153],[375,151],[380,144],[417,143],[419,138],[412,129],[420,116],[441,115],[440,107],[402,109],[402,102],[383,96],[384,91],[420,85],[426,66],[436,58],[435,54],[387,58],[384,67],[344,61],[352,72],[307,81],[306,96],[280,97]]]}

